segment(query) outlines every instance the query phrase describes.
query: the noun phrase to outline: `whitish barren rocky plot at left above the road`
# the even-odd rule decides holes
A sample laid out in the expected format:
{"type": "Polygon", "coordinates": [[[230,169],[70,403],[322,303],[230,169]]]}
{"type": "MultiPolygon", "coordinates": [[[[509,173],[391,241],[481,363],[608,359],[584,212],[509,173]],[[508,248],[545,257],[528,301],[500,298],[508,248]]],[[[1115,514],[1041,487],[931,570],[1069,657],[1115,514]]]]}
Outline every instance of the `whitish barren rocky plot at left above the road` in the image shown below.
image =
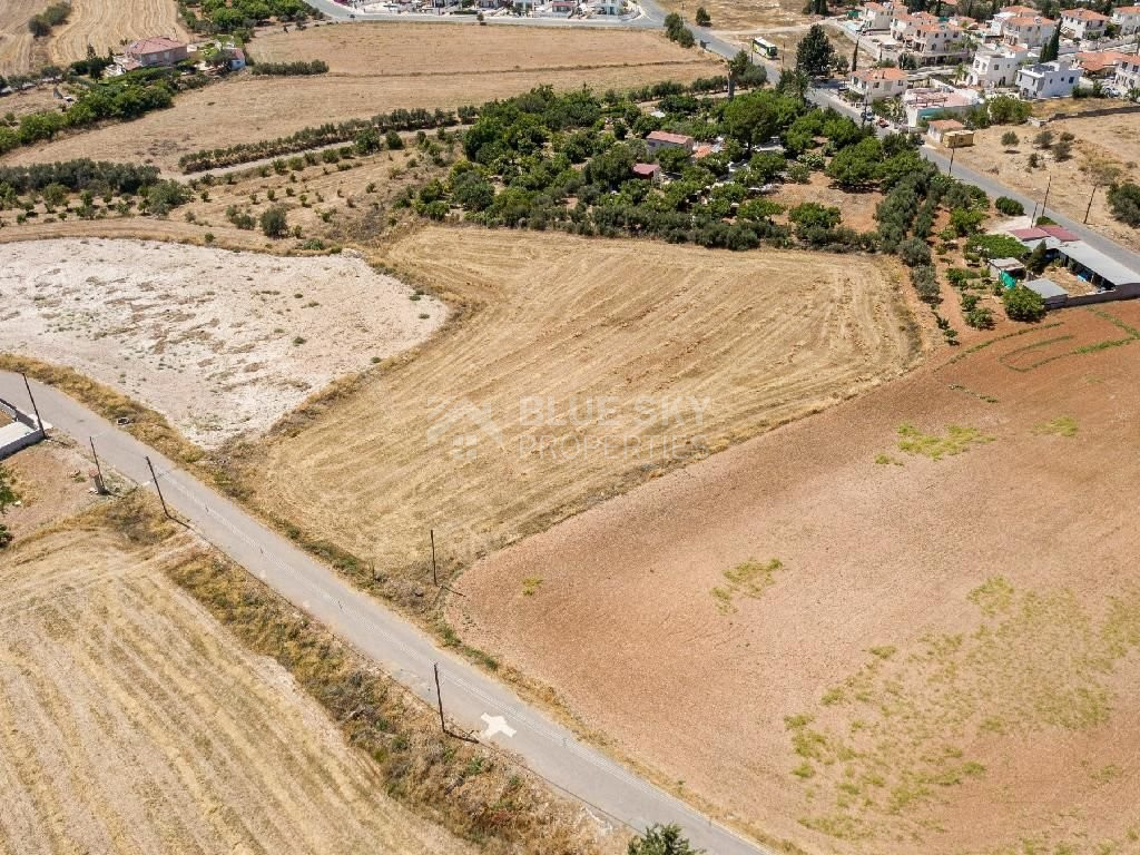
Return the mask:
{"type": "Polygon", "coordinates": [[[359,255],[114,239],[7,244],[0,351],[67,365],[217,446],[426,340],[446,310],[359,255]]]}

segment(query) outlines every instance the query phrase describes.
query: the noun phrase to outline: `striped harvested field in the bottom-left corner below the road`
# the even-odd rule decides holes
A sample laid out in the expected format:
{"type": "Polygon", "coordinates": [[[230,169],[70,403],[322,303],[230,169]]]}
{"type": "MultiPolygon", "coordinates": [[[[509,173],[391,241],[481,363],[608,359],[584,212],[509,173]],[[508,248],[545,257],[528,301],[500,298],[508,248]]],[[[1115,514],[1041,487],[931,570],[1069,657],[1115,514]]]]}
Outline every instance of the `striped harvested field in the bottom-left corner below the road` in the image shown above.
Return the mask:
{"type": "Polygon", "coordinates": [[[5,553],[0,852],[470,850],[168,578],[188,536],[113,507],[5,553]]]}

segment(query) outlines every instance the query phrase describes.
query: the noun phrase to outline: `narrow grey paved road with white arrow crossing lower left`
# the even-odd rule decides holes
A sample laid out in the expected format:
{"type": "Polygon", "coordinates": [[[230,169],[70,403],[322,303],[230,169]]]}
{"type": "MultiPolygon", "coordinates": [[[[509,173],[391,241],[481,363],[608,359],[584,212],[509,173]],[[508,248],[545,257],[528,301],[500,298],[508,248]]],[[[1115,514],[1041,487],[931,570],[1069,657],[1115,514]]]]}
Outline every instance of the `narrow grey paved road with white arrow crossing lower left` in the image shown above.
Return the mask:
{"type": "MultiPolygon", "coordinates": [[[[438,662],[443,707],[457,726],[515,752],[529,768],[585,801],[598,820],[610,824],[617,820],[637,830],[654,822],[677,823],[710,855],[766,855],[762,847],[580,742],[510,689],[438,648],[421,629],[130,434],[51,386],[33,381],[32,390],[54,432],[66,433],[81,448],[93,437],[104,466],[148,488],[153,484],[146,464],[149,455],[162,494],[179,518],[432,706],[437,702],[432,663],[438,662]]],[[[0,397],[27,404],[19,375],[0,372],[0,397]]]]}

